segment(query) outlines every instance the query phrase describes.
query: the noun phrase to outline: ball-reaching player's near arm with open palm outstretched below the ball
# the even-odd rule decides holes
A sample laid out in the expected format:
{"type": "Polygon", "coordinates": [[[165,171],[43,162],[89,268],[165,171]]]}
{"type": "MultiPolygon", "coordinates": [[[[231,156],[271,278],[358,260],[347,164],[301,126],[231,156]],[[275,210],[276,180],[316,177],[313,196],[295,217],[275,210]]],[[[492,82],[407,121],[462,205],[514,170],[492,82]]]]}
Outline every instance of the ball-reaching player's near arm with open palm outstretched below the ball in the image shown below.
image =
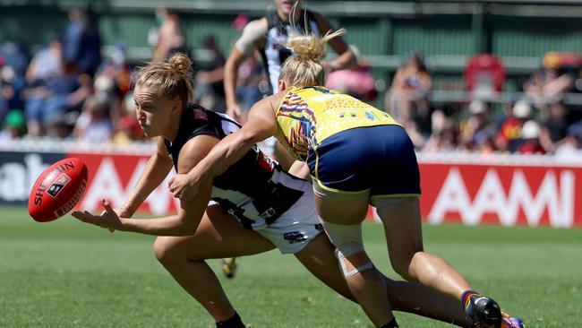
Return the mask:
{"type": "MultiPolygon", "coordinates": [[[[210,135],[199,135],[184,144],[178,160],[178,174],[185,174],[202,160],[218,143],[218,138],[210,135]]],[[[131,231],[155,236],[188,236],[196,231],[204,211],[210,201],[212,179],[200,186],[196,196],[181,202],[181,208],[175,215],[148,220],[131,220],[119,218],[107,202],[103,205],[105,213],[100,216],[88,212],[74,212],[73,216],[83,222],[98,225],[101,228],[131,231]]]]}

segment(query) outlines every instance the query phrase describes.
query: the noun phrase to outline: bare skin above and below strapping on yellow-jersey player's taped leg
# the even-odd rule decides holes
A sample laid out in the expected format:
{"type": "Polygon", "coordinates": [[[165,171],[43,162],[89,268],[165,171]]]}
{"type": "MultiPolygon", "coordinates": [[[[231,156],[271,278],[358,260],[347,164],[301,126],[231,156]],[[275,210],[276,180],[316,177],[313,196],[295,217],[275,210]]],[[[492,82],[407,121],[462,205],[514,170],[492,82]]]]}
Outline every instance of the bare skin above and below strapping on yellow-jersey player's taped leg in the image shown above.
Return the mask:
{"type": "MultiPolygon", "coordinates": [[[[321,219],[327,222],[343,225],[361,224],[368,211],[368,198],[364,195],[364,197],[358,198],[329,197],[323,200],[319,195],[316,195],[315,207],[321,219]]],[[[333,242],[336,236],[333,236],[330,231],[326,232],[333,242]]],[[[346,260],[346,263],[353,265],[355,268],[371,262],[364,251],[347,255],[346,260]]],[[[394,317],[387,296],[388,290],[381,272],[372,266],[370,269],[356,272],[346,281],[349,290],[373,324],[380,327],[392,321],[394,317]]]]}

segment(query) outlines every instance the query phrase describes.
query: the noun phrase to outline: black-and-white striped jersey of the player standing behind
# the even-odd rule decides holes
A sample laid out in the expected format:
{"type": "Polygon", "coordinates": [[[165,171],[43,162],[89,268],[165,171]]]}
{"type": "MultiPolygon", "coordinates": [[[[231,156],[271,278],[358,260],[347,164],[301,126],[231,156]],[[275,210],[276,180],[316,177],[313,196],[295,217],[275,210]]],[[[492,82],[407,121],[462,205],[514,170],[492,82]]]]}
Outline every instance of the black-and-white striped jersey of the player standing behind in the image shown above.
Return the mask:
{"type": "Polygon", "coordinates": [[[283,46],[287,42],[287,37],[297,30],[299,33],[312,32],[320,35],[320,28],[315,21],[313,13],[304,11],[300,14],[298,22],[291,24],[284,22],[278,17],[277,12],[267,15],[267,34],[265,36],[265,46],[261,49],[262,62],[265,65],[272,93],[278,92],[278,76],[281,72],[281,66],[287,57],[293,55],[293,52],[283,46]],[[305,30],[307,29],[307,30],[305,30]]]}

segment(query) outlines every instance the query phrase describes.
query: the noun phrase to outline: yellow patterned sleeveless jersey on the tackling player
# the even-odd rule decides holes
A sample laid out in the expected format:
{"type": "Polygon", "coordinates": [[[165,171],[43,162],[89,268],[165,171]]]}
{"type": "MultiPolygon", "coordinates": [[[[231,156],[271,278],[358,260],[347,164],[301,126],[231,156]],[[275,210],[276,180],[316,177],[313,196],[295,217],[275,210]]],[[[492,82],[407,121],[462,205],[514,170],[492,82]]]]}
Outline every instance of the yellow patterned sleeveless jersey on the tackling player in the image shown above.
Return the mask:
{"type": "Polygon", "coordinates": [[[323,87],[292,87],[275,111],[277,138],[299,160],[333,134],[355,127],[398,125],[379,109],[323,87]]]}

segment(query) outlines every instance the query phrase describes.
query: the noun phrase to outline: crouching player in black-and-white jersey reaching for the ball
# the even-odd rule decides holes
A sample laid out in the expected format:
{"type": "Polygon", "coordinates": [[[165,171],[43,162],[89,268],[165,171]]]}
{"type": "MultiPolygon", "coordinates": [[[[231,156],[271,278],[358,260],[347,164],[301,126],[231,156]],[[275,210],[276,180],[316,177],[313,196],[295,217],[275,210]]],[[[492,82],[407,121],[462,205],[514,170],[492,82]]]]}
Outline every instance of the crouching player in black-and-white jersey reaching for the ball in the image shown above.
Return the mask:
{"type": "MultiPolygon", "coordinates": [[[[311,184],[283,171],[256,147],[202,186],[192,201],[182,202],[176,215],[128,219],[173,167],[187,172],[219,140],[239,129],[230,117],[187,104],[192,91],[190,65],[186,56],[177,54],[169,64],[154,63],[140,71],[134,91],[137,116],[144,133],[158,137],[158,150],[122,208],[114,210],[104,202],[106,211],[101,215],[76,211],[73,216],[105,229],[164,236],[154,245],[158,260],[218,327],[244,324],[205,263],[210,258],[254,255],[278,247],[283,254],[295,255],[330,288],[354,300],[336,265],[333,246],[322,232],[311,184]],[[210,199],[216,204],[209,204],[210,199]]],[[[456,299],[415,282],[383,279],[395,309],[472,326],[456,299]]]]}

